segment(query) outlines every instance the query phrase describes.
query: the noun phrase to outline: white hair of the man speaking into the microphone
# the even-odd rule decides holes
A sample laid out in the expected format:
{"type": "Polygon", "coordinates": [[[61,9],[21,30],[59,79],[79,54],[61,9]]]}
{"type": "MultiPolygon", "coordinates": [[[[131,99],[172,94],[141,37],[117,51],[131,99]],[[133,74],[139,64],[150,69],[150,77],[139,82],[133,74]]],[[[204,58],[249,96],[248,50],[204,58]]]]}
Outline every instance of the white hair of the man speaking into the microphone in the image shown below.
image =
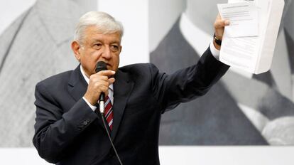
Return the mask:
{"type": "Polygon", "coordinates": [[[88,26],[97,26],[99,32],[104,34],[119,32],[121,37],[124,34],[124,27],[121,22],[116,21],[114,17],[101,11],[89,11],[84,14],[80,18],[79,23],[77,23],[77,27],[75,28],[75,41],[81,44],[83,43],[85,29],[88,26]]]}

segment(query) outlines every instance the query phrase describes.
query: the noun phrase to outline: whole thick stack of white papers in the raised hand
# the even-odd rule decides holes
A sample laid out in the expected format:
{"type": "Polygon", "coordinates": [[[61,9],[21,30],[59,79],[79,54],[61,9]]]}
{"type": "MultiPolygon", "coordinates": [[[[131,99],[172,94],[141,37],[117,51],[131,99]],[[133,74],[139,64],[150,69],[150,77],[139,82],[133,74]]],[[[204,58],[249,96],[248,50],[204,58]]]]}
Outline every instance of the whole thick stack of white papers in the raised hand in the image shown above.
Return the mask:
{"type": "Polygon", "coordinates": [[[284,0],[229,0],[217,6],[222,18],[231,22],[224,28],[219,60],[249,73],[268,71],[284,0]]]}

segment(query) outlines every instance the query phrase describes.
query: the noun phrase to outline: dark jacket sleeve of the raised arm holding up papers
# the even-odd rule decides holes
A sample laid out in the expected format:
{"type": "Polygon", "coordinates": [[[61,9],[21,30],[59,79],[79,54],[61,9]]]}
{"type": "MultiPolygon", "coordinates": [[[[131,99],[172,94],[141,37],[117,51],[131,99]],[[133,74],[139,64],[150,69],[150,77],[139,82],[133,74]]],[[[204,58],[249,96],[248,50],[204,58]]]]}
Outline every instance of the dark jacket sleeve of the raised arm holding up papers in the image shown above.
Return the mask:
{"type": "Polygon", "coordinates": [[[188,102],[207,91],[229,69],[228,65],[215,59],[209,48],[197,64],[167,75],[151,66],[153,95],[160,102],[161,110],[171,110],[180,102],[188,102]]]}

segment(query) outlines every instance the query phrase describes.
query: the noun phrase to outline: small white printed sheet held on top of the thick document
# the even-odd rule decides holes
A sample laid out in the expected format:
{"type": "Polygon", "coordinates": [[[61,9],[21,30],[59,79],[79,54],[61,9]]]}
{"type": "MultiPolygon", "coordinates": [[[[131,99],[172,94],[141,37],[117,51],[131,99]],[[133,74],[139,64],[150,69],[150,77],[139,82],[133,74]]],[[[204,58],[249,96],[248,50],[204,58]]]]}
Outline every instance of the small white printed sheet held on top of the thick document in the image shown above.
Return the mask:
{"type": "Polygon", "coordinates": [[[219,14],[229,19],[227,37],[258,36],[258,8],[255,3],[217,4],[219,14]]]}

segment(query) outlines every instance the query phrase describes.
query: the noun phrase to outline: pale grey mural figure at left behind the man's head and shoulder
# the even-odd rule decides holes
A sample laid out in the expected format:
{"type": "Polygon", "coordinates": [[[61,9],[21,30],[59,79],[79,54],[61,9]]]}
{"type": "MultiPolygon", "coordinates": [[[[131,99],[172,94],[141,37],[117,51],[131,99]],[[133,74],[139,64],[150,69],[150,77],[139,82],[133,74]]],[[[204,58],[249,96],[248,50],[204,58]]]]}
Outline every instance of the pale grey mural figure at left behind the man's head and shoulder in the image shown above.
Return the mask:
{"type": "Polygon", "coordinates": [[[1,34],[0,147],[33,147],[36,82],[77,65],[65,54],[70,53],[72,27],[89,11],[87,3],[38,0],[1,34]]]}

